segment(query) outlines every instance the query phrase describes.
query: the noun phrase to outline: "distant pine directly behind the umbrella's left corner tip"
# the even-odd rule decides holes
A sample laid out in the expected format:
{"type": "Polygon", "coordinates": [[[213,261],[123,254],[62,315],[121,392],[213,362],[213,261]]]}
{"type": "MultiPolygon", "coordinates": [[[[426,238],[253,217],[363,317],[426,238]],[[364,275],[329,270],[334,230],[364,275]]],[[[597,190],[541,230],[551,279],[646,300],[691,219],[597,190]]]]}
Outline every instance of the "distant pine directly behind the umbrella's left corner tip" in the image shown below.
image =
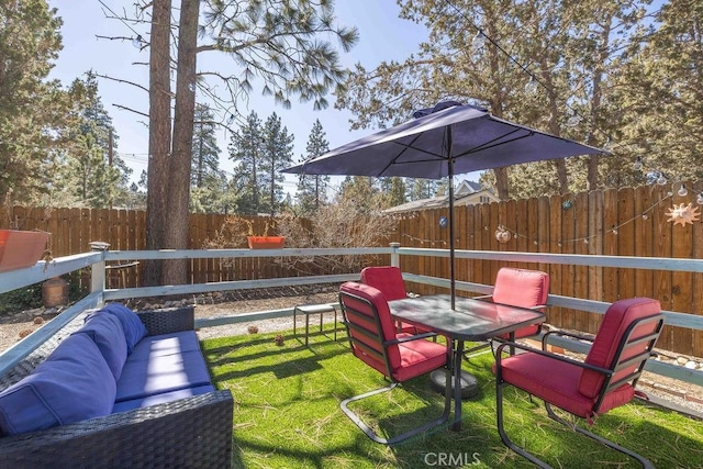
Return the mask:
{"type": "Polygon", "coordinates": [[[261,158],[261,180],[265,183],[266,196],[261,208],[264,211],[276,214],[280,202],[283,200],[283,175],[281,169],[289,167],[293,161],[294,136],[288,133],[286,126],[281,126],[281,118],[271,114],[264,124],[264,155],[261,158]]]}

